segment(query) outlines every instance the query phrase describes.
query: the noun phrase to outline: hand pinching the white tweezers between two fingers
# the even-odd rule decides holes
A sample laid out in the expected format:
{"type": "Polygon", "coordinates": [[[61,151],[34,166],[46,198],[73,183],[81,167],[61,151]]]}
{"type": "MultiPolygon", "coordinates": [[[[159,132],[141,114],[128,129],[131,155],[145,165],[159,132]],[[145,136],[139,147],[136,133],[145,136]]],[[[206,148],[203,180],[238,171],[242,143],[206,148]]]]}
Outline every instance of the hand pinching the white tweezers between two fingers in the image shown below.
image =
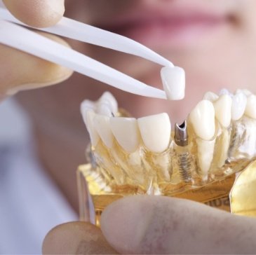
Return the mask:
{"type": "MultiPolygon", "coordinates": [[[[55,25],[65,11],[64,0],[3,0],[19,20],[33,27],[55,25]]],[[[43,36],[68,46],[65,41],[46,33],[43,36]]],[[[19,90],[60,83],[72,71],[46,60],[0,44],[0,101],[19,90]]]]}

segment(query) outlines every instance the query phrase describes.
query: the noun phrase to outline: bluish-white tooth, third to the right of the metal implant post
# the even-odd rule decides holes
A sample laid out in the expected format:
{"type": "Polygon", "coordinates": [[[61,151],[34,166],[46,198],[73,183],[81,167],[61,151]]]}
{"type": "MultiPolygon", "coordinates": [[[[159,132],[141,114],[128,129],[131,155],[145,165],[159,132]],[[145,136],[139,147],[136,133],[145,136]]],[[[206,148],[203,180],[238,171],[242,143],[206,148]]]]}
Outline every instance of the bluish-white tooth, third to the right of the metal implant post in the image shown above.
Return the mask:
{"type": "Polygon", "coordinates": [[[243,117],[245,112],[245,107],[247,104],[247,97],[243,92],[237,92],[232,98],[232,108],[231,108],[231,119],[239,120],[243,117]]]}

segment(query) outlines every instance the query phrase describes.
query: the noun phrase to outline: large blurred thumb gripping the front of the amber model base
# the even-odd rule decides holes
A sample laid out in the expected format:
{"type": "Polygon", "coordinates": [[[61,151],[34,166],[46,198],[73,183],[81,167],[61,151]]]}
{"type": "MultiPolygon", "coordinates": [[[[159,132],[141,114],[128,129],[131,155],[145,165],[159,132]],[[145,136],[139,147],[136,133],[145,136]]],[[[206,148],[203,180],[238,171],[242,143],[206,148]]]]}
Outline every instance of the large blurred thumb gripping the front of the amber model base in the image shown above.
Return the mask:
{"type": "Polygon", "coordinates": [[[118,200],[102,213],[102,233],[121,254],[255,254],[256,221],[162,196],[118,200]]]}

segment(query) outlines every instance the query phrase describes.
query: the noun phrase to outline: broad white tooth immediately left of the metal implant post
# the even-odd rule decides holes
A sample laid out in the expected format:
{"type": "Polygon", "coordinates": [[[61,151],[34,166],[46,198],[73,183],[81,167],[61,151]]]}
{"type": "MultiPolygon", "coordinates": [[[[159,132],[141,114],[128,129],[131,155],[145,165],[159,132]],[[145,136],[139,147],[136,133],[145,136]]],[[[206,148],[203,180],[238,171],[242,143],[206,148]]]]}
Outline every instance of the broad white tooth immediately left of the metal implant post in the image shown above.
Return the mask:
{"type": "Polygon", "coordinates": [[[138,118],[140,135],[149,151],[161,153],[170,142],[170,118],[167,113],[138,118]]]}

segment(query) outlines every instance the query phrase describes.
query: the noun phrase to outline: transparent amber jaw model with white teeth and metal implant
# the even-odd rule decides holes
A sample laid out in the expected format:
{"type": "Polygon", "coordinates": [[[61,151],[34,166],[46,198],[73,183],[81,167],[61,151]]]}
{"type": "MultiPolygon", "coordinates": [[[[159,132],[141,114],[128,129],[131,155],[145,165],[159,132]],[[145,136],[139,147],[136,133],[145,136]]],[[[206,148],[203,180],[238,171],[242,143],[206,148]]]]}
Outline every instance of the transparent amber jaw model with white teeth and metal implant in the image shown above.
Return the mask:
{"type": "Polygon", "coordinates": [[[173,132],[167,113],[132,118],[109,92],[83,101],[81,113],[91,141],[90,164],[78,170],[81,219],[98,225],[109,203],[137,194],[256,216],[256,96],[250,91],[207,92],[173,132]]]}

